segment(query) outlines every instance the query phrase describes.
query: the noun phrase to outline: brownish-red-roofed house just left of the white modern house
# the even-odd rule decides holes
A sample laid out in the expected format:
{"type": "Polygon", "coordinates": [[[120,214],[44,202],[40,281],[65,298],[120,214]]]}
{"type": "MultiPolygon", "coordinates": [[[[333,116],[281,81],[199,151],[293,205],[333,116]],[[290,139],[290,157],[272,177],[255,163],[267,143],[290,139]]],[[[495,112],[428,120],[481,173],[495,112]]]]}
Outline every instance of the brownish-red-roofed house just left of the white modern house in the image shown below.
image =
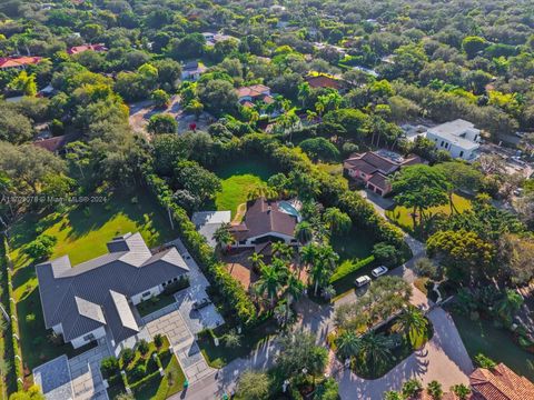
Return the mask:
{"type": "Polygon", "coordinates": [[[389,178],[402,167],[421,163],[418,156],[404,158],[393,151],[377,150],[362,154],[355,154],[343,162],[347,174],[363,181],[367,189],[379,196],[386,196],[392,191],[389,178]]]}

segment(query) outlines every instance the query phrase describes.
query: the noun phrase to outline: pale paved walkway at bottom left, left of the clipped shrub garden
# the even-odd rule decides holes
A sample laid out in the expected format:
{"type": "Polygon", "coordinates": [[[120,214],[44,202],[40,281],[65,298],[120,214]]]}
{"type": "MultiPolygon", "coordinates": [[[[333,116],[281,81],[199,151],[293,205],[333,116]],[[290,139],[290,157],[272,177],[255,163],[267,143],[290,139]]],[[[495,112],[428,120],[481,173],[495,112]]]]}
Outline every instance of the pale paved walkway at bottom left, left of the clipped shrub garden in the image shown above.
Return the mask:
{"type": "Polygon", "coordinates": [[[106,342],[69,360],[72,390],[77,400],[108,400],[100,373],[102,359],[110,352],[106,342]]]}

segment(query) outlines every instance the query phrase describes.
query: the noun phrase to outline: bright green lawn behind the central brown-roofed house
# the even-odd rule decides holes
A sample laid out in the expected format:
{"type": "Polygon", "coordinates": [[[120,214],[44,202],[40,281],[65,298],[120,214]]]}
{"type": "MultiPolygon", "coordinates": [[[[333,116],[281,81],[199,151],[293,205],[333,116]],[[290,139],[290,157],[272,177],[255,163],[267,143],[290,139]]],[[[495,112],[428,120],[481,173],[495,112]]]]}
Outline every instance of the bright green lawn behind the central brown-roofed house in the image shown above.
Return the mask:
{"type": "Polygon", "coordinates": [[[215,173],[221,179],[222,190],[216,194],[215,206],[219,211],[230,210],[234,217],[239,204],[258,183],[266,181],[276,170],[265,161],[239,161],[219,167],[215,173]]]}

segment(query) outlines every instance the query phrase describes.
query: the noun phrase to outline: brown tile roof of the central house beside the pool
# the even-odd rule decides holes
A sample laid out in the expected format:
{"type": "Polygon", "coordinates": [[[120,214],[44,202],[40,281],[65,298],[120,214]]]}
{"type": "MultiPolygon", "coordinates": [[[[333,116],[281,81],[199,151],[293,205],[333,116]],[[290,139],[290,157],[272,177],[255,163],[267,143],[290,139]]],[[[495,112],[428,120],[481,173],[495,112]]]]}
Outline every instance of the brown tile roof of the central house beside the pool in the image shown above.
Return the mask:
{"type": "Polygon", "coordinates": [[[270,232],[294,236],[297,219],[281,212],[276,201],[260,198],[247,203],[243,223],[231,227],[237,240],[260,237],[270,232]]]}

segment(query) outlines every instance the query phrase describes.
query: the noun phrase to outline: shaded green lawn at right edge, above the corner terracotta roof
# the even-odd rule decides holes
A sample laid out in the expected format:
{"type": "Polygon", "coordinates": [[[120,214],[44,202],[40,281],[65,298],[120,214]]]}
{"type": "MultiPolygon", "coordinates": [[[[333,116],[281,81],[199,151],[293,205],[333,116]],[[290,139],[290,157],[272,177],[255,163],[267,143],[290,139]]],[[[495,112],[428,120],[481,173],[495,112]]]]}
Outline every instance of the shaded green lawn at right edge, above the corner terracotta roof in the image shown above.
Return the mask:
{"type": "Polygon", "coordinates": [[[534,369],[530,366],[534,366],[534,354],[515,344],[508,331],[495,328],[491,321],[472,321],[457,312],[453,312],[453,319],[472,359],[483,353],[495,362],[504,362],[515,372],[534,380],[534,369]]]}

